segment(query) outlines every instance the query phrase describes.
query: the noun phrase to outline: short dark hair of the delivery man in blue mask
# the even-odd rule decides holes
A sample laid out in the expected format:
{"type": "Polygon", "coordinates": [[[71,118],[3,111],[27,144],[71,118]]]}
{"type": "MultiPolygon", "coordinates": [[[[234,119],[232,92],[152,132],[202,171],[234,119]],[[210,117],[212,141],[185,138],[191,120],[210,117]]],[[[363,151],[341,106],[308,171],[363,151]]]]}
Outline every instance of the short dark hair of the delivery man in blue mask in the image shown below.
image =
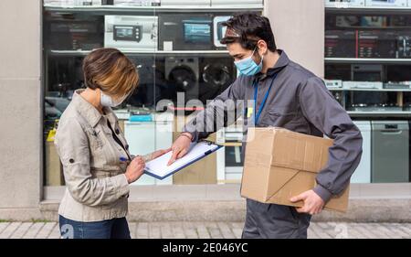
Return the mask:
{"type": "Polygon", "coordinates": [[[268,17],[255,13],[242,13],[231,17],[223,23],[223,26],[237,34],[237,37],[227,33],[226,37],[221,39],[221,44],[239,43],[242,48],[254,50],[258,40],[264,40],[270,51],[277,50],[268,17]]]}

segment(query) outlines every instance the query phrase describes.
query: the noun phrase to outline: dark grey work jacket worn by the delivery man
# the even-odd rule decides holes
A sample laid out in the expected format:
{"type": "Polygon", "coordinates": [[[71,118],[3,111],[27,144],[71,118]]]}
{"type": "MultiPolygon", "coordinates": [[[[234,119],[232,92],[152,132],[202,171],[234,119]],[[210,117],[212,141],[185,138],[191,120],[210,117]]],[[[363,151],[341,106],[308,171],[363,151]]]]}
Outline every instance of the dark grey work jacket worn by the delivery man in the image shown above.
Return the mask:
{"type": "MultiPolygon", "coordinates": [[[[269,91],[265,108],[255,125],[282,127],[319,137],[325,134],[334,140],[329,150],[329,161],[317,176],[318,186],[313,188],[327,202],[332,195],[341,194],[349,185],[350,178],[361,160],[363,137],[320,78],[291,61],[284,51],[279,50],[279,55],[275,67],[269,69],[267,74],[239,76],[227,91],[207,105],[205,111],[199,112],[195,119],[187,123],[184,131],[193,134],[194,140],[197,141],[234,123],[236,119],[227,118],[225,110],[249,107],[249,104],[238,102],[254,100],[253,82],[258,84],[258,109],[269,91],[273,76],[278,73],[269,91]],[[227,100],[236,103],[230,104],[227,100]]],[[[239,113],[243,115],[248,112],[239,113]]],[[[237,118],[237,115],[235,116],[237,118]]],[[[254,123],[249,122],[251,117],[248,115],[243,116],[244,131],[247,133],[247,127],[254,123]]],[[[245,148],[243,147],[243,155],[245,148]]]]}

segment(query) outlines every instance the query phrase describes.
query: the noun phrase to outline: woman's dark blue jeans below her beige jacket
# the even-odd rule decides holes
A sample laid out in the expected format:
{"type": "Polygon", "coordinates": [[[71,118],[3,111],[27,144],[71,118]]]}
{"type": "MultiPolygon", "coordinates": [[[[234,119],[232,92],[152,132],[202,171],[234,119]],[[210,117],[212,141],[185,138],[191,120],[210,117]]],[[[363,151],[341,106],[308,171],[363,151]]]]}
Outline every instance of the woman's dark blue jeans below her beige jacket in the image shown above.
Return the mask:
{"type": "Polygon", "coordinates": [[[80,222],[58,217],[63,239],[131,239],[129,224],[125,218],[80,222]]]}

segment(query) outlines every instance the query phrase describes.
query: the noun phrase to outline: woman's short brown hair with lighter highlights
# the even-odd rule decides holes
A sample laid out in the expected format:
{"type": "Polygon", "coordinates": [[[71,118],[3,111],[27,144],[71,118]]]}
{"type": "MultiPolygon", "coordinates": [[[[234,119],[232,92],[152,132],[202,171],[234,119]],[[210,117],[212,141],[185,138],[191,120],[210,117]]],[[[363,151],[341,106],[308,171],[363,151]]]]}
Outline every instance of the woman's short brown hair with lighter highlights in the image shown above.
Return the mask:
{"type": "Polygon", "coordinates": [[[112,97],[124,97],[139,83],[135,65],[116,48],[99,48],[83,61],[84,81],[88,88],[100,89],[112,97]]]}

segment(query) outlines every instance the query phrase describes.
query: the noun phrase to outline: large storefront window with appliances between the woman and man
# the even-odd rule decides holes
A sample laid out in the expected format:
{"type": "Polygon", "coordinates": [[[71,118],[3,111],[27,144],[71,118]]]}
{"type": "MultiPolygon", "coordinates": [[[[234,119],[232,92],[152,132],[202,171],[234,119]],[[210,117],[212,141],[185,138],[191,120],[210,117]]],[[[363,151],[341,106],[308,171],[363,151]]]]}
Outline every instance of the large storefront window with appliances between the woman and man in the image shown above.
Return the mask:
{"type": "MultiPolygon", "coordinates": [[[[46,186],[64,184],[53,136],[74,91],[84,88],[82,60],[92,49],[119,48],[139,70],[138,90],[115,112],[132,155],[144,155],[170,147],[178,134],[176,115],[168,106],[158,110],[158,102],[168,100],[174,110],[190,100],[206,103],[236,80],[233,59],[219,43],[225,29],[221,24],[239,11],[261,13],[263,7],[258,0],[229,5],[182,1],[184,5],[177,6],[169,1],[68,2],[45,1],[44,7],[46,186]],[[184,95],[183,102],[178,102],[178,92],[184,95]],[[165,111],[171,119],[159,115],[165,111]]],[[[183,115],[191,112],[184,110],[183,115]]],[[[216,134],[212,140],[233,144],[232,139],[216,134]]],[[[242,166],[238,142],[241,138],[234,142],[237,146],[188,167],[188,172],[163,181],[144,176],[135,185],[239,183],[240,169],[233,177],[233,169],[226,168],[242,166]]]]}

